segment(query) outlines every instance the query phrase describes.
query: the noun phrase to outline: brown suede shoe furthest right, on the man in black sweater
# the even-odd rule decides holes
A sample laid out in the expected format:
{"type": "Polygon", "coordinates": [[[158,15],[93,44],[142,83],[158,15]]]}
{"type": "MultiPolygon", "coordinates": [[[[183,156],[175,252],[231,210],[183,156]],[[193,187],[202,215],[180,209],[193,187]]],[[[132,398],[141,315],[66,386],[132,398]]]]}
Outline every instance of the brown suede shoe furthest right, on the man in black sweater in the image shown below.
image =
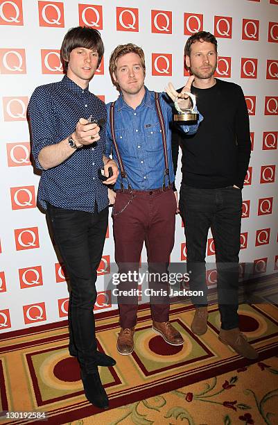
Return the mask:
{"type": "Polygon", "coordinates": [[[240,356],[252,360],[259,357],[259,353],[257,353],[252,345],[247,342],[247,337],[243,335],[238,328],[230,329],[229,331],[220,329],[218,339],[223,342],[223,344],[232,347],[240,356]]]}

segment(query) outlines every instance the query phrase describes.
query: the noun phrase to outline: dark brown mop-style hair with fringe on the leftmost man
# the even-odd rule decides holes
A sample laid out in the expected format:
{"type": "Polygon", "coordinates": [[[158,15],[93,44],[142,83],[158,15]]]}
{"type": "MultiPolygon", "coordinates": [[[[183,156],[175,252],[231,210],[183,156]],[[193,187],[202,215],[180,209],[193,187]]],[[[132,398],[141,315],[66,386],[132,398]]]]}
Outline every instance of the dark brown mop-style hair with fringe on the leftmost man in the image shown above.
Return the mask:
{"type": "Polygon", "coordinates": [[[77,47],[85,47],[85,49],[96,49],[98,52],[98,66],[104,53],[103,40],[101,34],[94,28],[87,26],[76,26],[70,28],[64,36],[61,47],[61,61],[64,68],[64,73],[67,73],[69,66],[69,55],[73,49],[77,47]]]}

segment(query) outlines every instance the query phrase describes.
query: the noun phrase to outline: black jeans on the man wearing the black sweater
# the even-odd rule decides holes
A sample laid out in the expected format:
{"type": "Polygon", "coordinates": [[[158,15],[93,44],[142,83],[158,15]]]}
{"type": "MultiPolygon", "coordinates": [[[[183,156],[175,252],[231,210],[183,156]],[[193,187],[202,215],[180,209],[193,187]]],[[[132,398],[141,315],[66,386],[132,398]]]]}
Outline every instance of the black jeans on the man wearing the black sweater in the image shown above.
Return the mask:
{"type": "Polygon", "coordinates": [[[214,237],[217,265],[218,307],[221,328],[238,327],[238,253],[241,238],[241,190],[228,186],[198,189],[182,184],[180,212],[186,237],[186,268],[191,290],[204,292],[193,297],[196,306],[207,304],[205,256],[209,228],[214,237]]]}

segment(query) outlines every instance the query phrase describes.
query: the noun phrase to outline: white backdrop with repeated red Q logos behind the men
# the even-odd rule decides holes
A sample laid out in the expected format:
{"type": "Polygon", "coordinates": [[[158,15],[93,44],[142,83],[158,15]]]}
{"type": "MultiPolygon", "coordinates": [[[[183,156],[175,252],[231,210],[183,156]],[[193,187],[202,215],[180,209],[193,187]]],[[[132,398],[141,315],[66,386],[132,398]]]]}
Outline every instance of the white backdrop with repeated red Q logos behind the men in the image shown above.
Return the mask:
{"type": "MultiPolygon", "coordinates": [[[[252,157],[243,190],[241,269],[252,263],[258,276],[278,269],[278,0],[0,0],[0,332],[67,317],[64,272],[44,214],[36,207],[40,176],[29,160],[26,106],[37,85],[62,78],[62,38],[78,25],[101,31],[105,55],[90,90],[106,102],[117,97],[108,72],[117,44],[143,47],[146,85],[162,91],[169,81],[184,85],[183,49],[189,35],[202,29],[216,35],[216,76],[243,87],[250,114],[252,157]]],[[[180,174],[177,186],[179,182],[180,174]]],[[[209,235],[207,261],[214,259],[209,235]]],[[[180,217],[171,261],[186,261],[180,217]]],[[[103,275],[113,262],[110,219],[98,269],[96,313],[115,307],[110,293],[103,292],[103,275]]],[[[207,281],[215,284],[215,269],[207,272],[207,281]]]]}

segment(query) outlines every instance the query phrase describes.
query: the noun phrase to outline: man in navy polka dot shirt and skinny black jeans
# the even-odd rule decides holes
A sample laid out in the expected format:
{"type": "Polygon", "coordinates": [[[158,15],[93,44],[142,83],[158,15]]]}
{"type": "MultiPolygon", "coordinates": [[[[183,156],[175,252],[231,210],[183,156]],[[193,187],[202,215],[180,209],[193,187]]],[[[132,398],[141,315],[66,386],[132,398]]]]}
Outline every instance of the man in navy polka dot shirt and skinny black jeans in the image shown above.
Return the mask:
{"type": "Polygon", "coordinates": [[[108,219],[107,185],[119,174],[114,160],[103,155],[105,104],[89,92],[103,56],[101,35],[93,28],[67,32],[61,56],[65,76],[58,83],[35,89],[28,106],[33,157],[42,170],[38,202],[46,210],[55,243],[67,267],[69,297],[69,352],[77,356],[87,399],[99,408],[108,399],[98,365],[112,366],[113,358],[97,351],[94,326],[96,269],[101,261],[108,219]],[[98,169],[109,176],[102,182],[98,169]]]}

